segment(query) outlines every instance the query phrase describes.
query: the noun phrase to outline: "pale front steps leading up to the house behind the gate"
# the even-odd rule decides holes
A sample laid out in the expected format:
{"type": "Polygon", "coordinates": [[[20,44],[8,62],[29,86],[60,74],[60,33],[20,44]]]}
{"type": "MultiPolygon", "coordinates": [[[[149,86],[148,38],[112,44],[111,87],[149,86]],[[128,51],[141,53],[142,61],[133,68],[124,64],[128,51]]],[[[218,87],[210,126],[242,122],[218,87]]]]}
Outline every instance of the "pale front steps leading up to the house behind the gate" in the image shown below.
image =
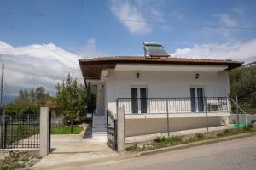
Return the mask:
{"type": "Polygon", "coordinates": [[[93,115],[92,141],[107,142],[107,121],[105,115],[93,115]]]}

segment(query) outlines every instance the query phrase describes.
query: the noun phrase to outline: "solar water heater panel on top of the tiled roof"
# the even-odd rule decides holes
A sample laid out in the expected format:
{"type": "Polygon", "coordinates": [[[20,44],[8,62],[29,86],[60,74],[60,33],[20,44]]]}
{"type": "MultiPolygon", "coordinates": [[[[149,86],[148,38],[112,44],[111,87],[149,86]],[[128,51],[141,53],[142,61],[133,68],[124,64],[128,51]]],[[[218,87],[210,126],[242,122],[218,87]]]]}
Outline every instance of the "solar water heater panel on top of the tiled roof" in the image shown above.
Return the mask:
{"type": "Polygon", "coordinates": [[[150,57],[168,57],[170,56],[162,44],[157,42],[144,42],[144,52],[145,56],[149,55],[150,57]]]}

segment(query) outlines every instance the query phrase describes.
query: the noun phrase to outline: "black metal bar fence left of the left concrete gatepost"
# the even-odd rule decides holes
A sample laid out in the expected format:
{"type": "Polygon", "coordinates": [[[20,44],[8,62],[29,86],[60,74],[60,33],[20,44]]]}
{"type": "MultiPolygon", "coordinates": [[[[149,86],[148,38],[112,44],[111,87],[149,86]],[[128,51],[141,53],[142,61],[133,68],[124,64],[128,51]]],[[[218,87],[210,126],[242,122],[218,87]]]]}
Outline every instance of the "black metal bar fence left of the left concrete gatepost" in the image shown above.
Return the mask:
{"type": "Polygon", "coordinates": [[[39,149],[40,114],[9,116],[1,112],[1,149],[39,149]]]}

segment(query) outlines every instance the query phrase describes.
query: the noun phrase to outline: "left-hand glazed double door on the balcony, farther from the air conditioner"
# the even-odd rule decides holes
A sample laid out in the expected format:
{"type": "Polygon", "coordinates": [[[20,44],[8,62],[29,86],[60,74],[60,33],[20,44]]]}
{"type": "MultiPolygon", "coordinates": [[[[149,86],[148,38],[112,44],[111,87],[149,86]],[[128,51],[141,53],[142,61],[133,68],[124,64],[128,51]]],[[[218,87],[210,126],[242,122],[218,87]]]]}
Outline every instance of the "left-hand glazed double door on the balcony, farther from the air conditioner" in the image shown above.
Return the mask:
{"type": "Polygon", "coordinates": [[[132,113],[147,113],[147,88],[131,88],[132,113]]]}

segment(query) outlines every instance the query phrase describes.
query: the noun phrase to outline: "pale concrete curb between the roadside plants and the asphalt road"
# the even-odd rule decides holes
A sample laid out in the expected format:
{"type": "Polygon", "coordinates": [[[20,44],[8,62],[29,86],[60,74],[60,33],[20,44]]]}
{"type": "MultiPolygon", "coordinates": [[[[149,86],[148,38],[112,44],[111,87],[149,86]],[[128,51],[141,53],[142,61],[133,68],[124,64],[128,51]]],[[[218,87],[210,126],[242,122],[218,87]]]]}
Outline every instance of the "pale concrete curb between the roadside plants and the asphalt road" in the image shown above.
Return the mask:
{"type": "Polygon", "coordinates": [[[163,153],[163,152],[172,151],[172,150],[182,150],[182,149],[192,148],[192,147],[200,146],[200,145],[204,145],[204,144],[214,144],[214,143],[224,142],[224,141],[233,140],[233,139],[241,139],[241,138],[251,137],[254,135],[256,135],[256,132],[236,134],[233,136],[227,136],[227,137],[222,137],[222,138],[218,138],[218,139],[208,139],[205,141],[200,141],[200,142],[195,142],[195,143],[190,143],[190,144],[180,144],[180,145],[169,146],[166,148],[160,148],[160,149],[156,149],[156,150],[147,150],[147,151],[142,151],[142,152],[138,153],[136,155],[136,157],[149,156],[149,155],[163,153]]]}

